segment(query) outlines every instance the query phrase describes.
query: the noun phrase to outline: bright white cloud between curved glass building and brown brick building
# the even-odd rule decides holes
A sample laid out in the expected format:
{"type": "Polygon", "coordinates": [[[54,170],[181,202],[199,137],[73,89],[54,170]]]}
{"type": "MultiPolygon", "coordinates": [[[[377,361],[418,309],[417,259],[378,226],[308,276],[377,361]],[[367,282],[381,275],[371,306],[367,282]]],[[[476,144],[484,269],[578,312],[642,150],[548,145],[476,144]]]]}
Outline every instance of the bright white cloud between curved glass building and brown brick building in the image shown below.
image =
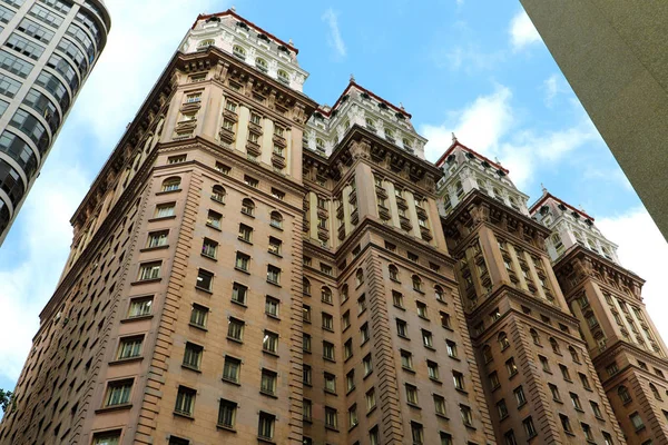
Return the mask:
{"type": "MultiPolygon", "coordinates": [[[[0,380],[14,382],[69,255],[69,219],[209,0],[109,1],[111,33],[0,249],[0,380]],[[92,139],[92,144],[91,142],[92,139]],[[87,162],[81,162],[86,159],[87,162]],[[88,162],[95,161],[89,165],[88,162]]],[[[224,10],[216,4],[217,10],[224,10]]],[[[11,388],[6,388],[11,389],[11,388]]]]}

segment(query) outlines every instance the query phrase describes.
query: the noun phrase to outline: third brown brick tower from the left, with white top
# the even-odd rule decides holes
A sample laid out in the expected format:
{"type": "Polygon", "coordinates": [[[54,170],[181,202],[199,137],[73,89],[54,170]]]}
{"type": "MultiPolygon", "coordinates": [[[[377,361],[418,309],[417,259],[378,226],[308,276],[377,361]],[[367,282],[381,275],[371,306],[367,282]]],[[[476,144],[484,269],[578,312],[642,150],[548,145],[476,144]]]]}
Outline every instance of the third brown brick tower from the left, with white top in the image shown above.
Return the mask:
{"type": "Polygon", "coordinates": [[[439,159],[443,228],[498,443],[623,443],[552,273],[550,233],[498,162],[454,137],[439,159]]]}

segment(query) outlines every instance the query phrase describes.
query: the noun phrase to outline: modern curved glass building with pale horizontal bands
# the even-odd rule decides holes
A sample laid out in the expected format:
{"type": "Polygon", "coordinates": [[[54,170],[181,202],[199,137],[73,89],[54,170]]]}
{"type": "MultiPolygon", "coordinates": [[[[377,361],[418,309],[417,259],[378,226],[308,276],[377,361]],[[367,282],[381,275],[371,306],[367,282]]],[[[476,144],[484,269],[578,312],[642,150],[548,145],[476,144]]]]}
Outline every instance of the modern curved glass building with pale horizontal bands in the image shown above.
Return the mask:
{"type": "Polygon", "coordinates": [[[0,245],[110,24],[101,0],[0,0],[0,245]]]}

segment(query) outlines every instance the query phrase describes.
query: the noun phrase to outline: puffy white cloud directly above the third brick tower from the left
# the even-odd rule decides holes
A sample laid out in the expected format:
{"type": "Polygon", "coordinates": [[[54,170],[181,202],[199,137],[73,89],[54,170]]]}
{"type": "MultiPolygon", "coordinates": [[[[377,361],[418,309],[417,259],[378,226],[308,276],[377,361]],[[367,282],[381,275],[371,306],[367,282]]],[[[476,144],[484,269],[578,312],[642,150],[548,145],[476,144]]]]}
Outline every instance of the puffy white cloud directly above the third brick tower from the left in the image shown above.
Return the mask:
{"type": "Polygon", "coordinates": [[[480,96],[461,110],[450,113],[445,123],[423,125],[420,132],[429,139],[425,155],[435,161],[452,142],[452,132],[459,141],[481,155],[502,159],[510,169],[510,178],[519,187],[537,174],[537,167],[554,165],[566,154],[600,139],[589,118],[581,112],[579,121],[552,131],[536,131],[522,127],[513,108],[512,91],[504,86],[488,96],[480,96]]]}

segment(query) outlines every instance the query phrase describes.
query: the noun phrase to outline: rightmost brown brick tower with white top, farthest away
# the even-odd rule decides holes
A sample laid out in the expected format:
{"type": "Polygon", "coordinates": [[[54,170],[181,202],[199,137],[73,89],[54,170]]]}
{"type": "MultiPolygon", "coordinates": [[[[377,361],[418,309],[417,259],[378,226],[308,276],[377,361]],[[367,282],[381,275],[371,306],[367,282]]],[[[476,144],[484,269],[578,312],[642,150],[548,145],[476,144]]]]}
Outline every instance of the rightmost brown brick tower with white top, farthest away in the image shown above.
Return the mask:
{"type": "Polygon", "coordinates": [[[592,217],[543,190],[531,207],[551,230],[548,251],[571,313],[629,443],[668,443],[668,360],[645,304],[592,217]]]}

